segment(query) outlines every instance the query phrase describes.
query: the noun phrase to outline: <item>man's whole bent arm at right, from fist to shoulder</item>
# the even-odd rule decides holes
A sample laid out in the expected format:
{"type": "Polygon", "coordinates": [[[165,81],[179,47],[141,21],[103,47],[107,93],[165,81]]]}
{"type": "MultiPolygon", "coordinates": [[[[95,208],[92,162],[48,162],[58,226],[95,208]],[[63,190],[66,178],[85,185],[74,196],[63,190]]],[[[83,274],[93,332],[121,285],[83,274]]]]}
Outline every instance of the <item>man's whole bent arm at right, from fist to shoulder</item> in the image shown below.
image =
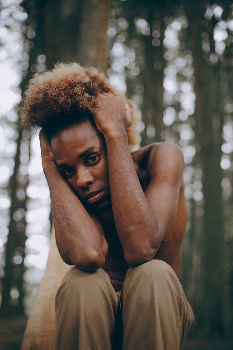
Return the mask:
{"type": "Polygon", "coordinates": [[[107,148],[115,225],[126,262],[138,265],[153,259],[174,220],[183,174],[183,154],[178,146],[170,143],[163,148],[152,146],[147,162],[149,184],[144,193],[125,132],[127,116],[123,103],[119,97],[109,94],[101,95],[100,99],[102,106],[94,119],[107,148]]]}

